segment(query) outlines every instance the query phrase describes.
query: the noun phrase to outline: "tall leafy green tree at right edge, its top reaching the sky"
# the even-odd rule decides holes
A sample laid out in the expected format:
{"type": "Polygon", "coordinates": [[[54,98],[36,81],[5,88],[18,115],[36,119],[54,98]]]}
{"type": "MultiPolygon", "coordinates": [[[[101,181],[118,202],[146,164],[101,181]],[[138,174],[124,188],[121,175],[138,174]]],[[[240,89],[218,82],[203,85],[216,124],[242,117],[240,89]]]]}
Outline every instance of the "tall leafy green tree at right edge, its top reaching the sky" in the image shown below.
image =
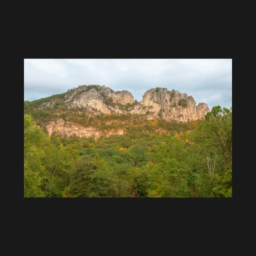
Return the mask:
{"type": "Polygon", "coordinates": [[[197,191],[203,196],[232,197],[232,108],[213,107],[191,132],[191,140],[189,164],[201,187],[197,191]]]}

